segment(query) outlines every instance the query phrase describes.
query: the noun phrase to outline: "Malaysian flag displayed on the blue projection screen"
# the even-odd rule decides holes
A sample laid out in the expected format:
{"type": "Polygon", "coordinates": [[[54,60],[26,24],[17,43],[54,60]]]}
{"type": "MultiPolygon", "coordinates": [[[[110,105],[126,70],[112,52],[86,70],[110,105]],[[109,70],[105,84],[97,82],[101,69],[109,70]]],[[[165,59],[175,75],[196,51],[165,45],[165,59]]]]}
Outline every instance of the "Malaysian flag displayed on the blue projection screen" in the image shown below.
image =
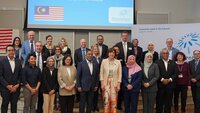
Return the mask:
{"type": "Polygon", "coordinates": [[[64,7],[62,6],[35,6],[34,20],[64,20],[64,7]]]}

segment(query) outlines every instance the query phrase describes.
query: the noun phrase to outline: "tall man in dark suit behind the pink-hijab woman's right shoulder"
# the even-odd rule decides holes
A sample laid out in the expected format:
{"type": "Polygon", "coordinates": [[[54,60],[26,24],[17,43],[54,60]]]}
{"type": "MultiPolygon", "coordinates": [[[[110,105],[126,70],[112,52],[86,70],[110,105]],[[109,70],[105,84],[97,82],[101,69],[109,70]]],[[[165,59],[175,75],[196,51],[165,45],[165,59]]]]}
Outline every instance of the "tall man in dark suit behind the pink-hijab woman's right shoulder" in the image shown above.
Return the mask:
{"type": "Polygon", "coordinates": [[[120,58],[122,58],[122,67],[125,66],[126,60],[129,55],[133,55],[133,45],[128,42],[128,32],[123,31],[121,34],[122,41],[118,42],[115,46],[119,48],[120,58]]]}

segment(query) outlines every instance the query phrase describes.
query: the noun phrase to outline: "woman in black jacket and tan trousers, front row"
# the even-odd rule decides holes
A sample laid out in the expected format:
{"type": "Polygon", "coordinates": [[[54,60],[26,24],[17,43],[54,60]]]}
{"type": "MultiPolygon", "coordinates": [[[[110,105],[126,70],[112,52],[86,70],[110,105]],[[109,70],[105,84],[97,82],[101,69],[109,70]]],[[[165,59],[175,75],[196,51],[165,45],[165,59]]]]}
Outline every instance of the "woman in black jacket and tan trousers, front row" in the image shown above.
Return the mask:
{"type": "Polygon", "coordinates": [[[44,97],[43,112],[53,113],[55,92],[58,90],[57,74],[54,68],[55,60],[53,57],[47,59],[47,67],[42,70],[42,92],[44,97]]]}

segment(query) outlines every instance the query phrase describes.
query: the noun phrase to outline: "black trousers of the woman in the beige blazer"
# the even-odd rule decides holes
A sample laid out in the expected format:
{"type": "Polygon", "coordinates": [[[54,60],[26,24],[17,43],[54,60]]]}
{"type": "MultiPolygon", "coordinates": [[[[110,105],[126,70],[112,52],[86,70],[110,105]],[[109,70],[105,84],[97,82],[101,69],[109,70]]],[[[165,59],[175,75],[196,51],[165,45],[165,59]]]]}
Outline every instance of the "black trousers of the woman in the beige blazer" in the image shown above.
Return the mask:
{"type": "Polygon", "coordinates": [[[59,96],[61,113],[73,113],[75,95],[59,96]]]}

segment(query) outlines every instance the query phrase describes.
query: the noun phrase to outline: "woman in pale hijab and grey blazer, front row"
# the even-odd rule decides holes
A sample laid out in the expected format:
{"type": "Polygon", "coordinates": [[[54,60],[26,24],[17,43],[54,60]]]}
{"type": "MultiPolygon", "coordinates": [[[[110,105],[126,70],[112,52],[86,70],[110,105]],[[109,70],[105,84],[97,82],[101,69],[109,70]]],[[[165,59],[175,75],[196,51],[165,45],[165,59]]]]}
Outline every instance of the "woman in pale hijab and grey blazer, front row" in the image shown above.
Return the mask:
{"type": "Polygon", "coordinates": [[[157,80],[159,78],[159,69],[157,64],[153,63],[153,54],[145,54],[142,67],[142,102],[143,113],[153,113],[157,93],[157,80]]]}

